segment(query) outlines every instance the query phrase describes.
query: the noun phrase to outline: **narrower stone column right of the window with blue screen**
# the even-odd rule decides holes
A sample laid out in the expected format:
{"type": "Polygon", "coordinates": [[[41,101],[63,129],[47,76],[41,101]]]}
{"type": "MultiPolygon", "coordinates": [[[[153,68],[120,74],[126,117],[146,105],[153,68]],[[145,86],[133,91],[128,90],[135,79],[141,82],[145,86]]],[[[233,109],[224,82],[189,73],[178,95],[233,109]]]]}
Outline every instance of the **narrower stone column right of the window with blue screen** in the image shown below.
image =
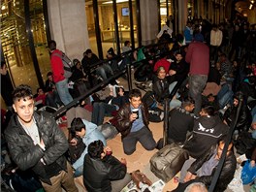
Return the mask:
{"type": "Polygon", "coordinates": [[[157,1],[141,0],[142,44],[144,46],[155,43],[158,34],[157,1]]]}

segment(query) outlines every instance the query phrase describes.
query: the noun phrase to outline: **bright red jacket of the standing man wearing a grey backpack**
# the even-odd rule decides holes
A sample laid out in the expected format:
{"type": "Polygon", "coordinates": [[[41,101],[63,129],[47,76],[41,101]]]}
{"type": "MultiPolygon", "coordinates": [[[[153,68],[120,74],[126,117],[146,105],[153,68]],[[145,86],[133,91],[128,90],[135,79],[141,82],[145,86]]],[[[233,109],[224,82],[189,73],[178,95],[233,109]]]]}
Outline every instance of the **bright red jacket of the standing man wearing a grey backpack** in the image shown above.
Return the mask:
{"type": "Polygon", "coordinates": [[[65,79],[62,59],[56,54],[62,55],[62,52],[58,49],[55,49],[50,56],[50,66],[53,75],[52,77],[55,83],[65,79]]]}

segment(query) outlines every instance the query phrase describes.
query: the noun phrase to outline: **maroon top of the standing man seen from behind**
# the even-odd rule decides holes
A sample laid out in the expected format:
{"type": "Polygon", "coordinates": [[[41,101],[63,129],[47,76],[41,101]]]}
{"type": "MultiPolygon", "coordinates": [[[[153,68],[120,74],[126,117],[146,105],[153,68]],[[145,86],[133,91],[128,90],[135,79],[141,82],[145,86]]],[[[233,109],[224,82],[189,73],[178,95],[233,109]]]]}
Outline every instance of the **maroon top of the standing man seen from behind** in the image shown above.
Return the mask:
{"type": "Polygon", "coordinates": [[[202,42],[192,42],[186,53],[186,62],[190,63],[190,75],[208,75],[208,46],[202,42]]]}

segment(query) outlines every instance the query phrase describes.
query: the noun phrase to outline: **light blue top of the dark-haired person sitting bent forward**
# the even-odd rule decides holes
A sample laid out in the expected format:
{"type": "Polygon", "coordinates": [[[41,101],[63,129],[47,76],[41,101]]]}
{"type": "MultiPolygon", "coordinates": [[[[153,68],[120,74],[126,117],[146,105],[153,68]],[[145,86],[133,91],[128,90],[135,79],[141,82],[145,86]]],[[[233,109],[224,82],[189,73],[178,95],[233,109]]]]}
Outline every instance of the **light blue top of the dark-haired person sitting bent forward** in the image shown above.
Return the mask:
{"type": "Polygon", "coordinates": [[[97,129],[97,125],[82,119],[83,124],[85,125],[85,135],[81,138],[83,144],[85,144],[85,148],[80,155],[80,158],[73,164],[73,168],[77,170],[80,166],[83,166],[83,160],[85,154],[88,152],[88,145],[94,141],[102,141],[106,146],[107,142],[103,136],[103,134],[97,129]]]}

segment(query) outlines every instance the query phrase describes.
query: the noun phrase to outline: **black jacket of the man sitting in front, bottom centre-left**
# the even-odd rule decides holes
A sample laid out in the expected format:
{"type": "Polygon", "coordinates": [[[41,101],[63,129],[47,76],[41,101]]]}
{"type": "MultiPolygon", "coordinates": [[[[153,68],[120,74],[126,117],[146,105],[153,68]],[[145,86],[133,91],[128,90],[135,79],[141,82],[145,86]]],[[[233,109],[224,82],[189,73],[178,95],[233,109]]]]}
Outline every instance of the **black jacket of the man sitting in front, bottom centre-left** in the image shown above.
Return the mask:
{"type": "Polygon", "coordinates": [[[112,180],[122,179],[127,168],[112,155],[93,159],[86,154],[83,164],[83,184],[88,192],[111,192],[112,180]]]}

